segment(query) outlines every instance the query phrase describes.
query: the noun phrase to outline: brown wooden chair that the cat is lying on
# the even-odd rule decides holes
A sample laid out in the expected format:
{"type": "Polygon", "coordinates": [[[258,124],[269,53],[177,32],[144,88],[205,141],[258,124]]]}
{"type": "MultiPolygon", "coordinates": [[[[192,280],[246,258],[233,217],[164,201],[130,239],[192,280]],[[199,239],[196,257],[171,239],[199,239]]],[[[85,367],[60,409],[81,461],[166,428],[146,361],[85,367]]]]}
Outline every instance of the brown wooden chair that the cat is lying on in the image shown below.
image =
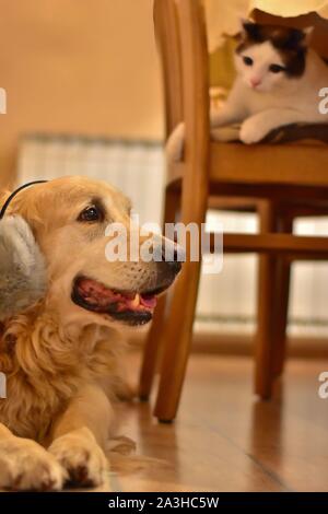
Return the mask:
{"type": "MultiPolygon", "coordinates": [[[[201,2],[155,0],[154,22],[164,71],[167,135],[180,120],[186,124],[184,160],[169,164],[167,171],[164,221],[175,221],[180,212],[183,223],[201,224],[213,202],[225,209],[258,210],[260,233],[224,234],[224,252],[260,255],[255,390],[269,398],[283,366],[290,265],[294,259],[328,257],[327,238],[292,235],[296,215],[327,213],[328,149],[210,141],[201,2]]],[[[145,344],[140,398],[150,395],[161,354],[154,411],[160,421],[172,421],[177,412],[200,266],[187,259],[171,301],[160,299],[145,344]]]]}

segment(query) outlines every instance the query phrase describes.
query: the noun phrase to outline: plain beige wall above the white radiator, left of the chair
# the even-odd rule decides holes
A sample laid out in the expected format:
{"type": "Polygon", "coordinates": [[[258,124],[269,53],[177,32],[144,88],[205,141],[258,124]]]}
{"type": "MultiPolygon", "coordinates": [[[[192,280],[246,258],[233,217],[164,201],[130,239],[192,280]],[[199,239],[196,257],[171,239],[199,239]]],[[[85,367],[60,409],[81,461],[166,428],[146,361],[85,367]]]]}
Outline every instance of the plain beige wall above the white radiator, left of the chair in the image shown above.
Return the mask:
{"type": "Polygon", "coordinates": [[[162,136],[152,0],[0,0],[0,179],[31,131],[162,136]]]}

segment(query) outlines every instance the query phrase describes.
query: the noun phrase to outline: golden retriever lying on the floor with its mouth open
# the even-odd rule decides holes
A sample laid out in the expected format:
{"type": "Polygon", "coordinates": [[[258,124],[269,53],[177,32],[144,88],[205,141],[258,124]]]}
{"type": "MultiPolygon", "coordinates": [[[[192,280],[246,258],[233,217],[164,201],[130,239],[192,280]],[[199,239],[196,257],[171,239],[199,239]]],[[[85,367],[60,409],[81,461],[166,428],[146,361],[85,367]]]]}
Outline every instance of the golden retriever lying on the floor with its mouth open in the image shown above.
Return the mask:
{"type": "MultiPolygon", "coordinates": [[[[130,203],[107,184],[83,177],[24,189],[8,213],[32,227],[48,290],[33,308],[7,319],[0,335],[7,376],[0,488],[101,484],[115,398],[124,387],[119,327],[151,320],[156,295],[180,270],[176,247],[171,261],[108,261],[105,229],[118,222],[129,231],[130,203]]],[[[161,250],[167,243],[149,237],[161,250]]]]}

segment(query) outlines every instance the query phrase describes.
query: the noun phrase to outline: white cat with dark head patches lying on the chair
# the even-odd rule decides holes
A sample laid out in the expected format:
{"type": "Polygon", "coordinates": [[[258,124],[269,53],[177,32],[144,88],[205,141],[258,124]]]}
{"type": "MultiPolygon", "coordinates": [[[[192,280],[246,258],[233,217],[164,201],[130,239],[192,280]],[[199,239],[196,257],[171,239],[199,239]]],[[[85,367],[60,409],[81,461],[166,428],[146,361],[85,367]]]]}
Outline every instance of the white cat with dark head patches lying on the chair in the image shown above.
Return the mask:
{"type": "MultiPolygon", "coordinates": [[[[237,77],[211,128],[241,124],[239,139],[262,140],[274,128],[294,122],[328,122],[319,112],[319,91],[328,86],[327,63],[312,49],[304,31],[243,22],[235,51],[237,77]]],[[[168,156],[180,157],[184,124],[167,142],[168,156]]]]}

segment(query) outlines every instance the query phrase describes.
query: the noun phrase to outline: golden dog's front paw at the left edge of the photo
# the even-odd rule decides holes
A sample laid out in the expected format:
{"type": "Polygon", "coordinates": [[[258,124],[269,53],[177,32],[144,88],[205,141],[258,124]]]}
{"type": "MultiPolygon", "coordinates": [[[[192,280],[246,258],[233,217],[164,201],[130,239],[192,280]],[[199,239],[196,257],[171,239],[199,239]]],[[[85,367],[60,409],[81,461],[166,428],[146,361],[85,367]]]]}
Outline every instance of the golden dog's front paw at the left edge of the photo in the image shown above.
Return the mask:
{"type": "Polygon", "coordinates": [[[58,491],[66,471],[34,441],[11,437],[0,442],[0,489],[58,491]]]}

